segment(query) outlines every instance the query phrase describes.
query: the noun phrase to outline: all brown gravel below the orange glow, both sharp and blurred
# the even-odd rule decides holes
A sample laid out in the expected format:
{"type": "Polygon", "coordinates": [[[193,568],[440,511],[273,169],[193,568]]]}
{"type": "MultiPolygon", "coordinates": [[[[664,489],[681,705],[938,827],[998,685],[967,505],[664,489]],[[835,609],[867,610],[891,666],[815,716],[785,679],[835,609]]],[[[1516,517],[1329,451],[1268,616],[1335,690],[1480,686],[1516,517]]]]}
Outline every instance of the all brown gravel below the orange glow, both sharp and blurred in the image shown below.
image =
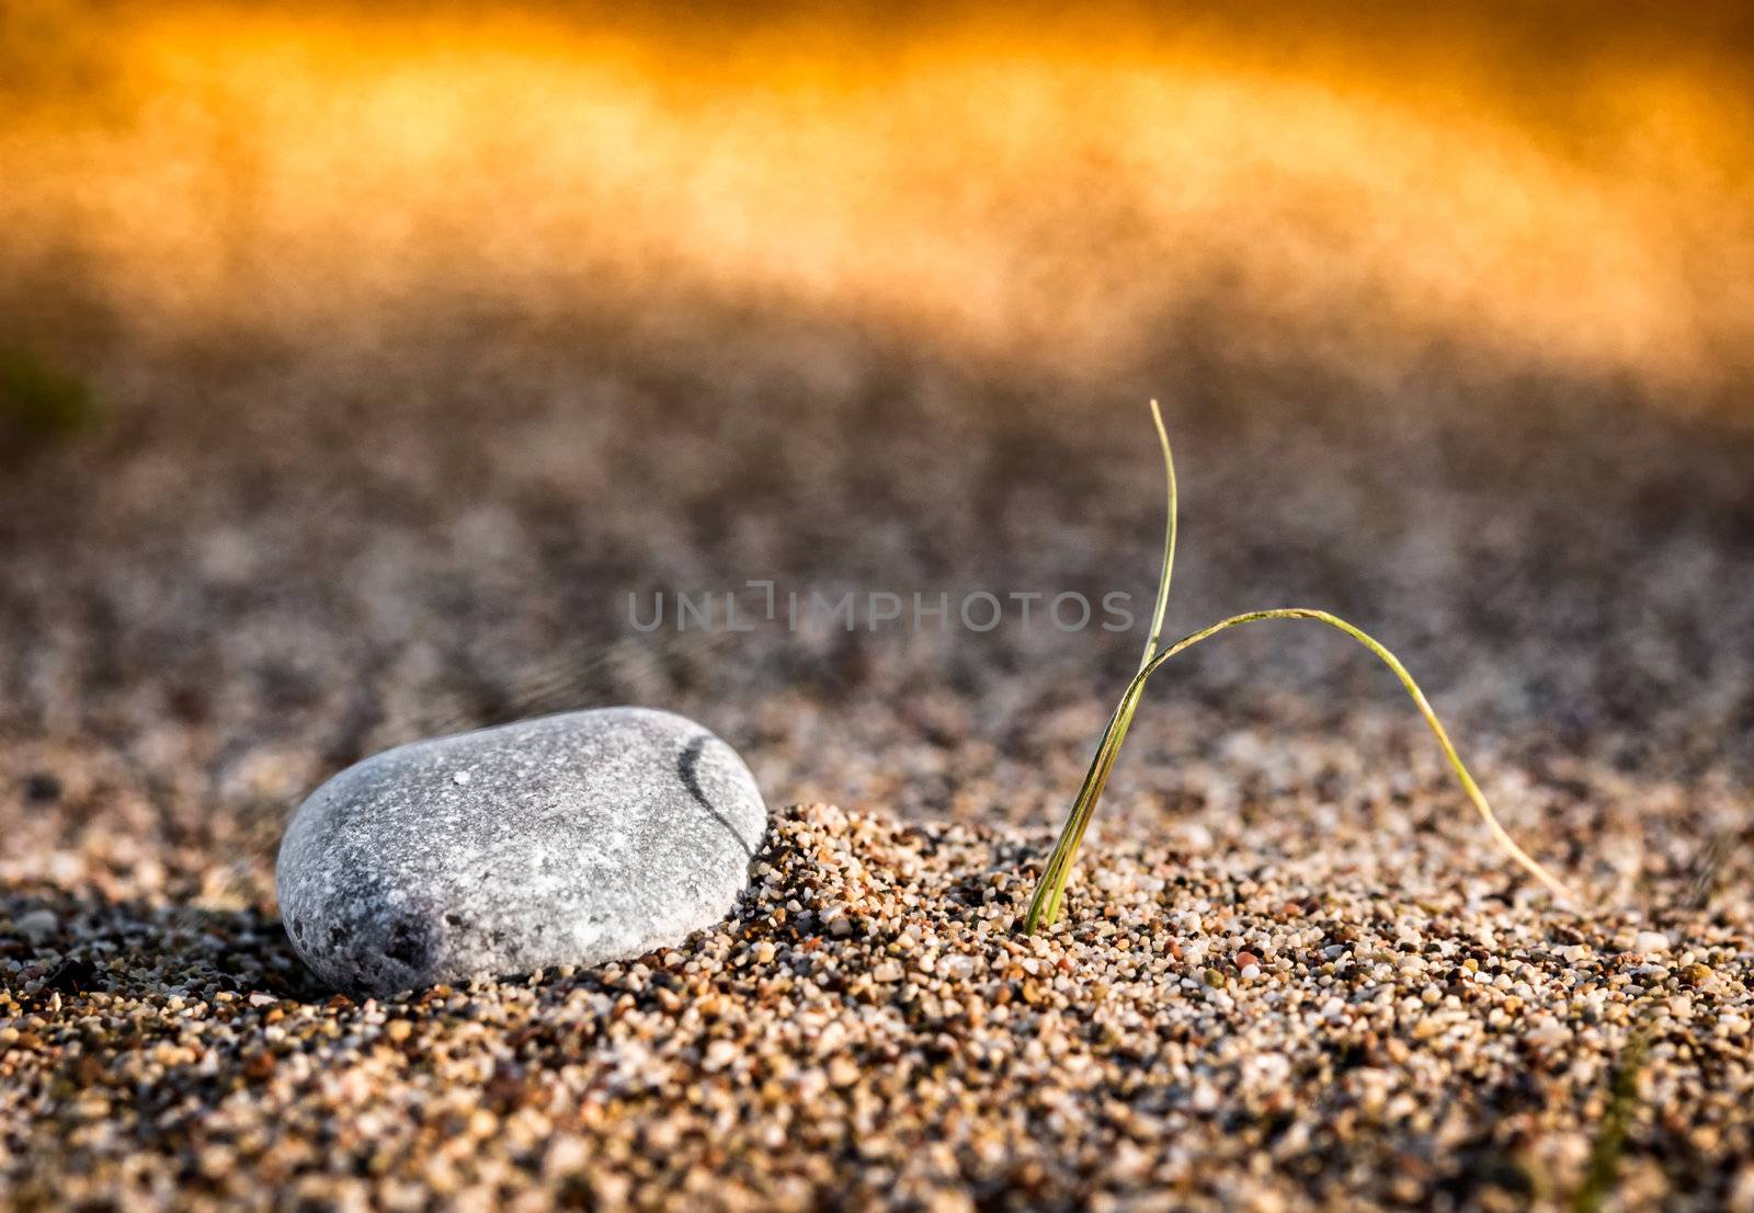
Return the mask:
{"type": "Polygon", "coordinates": [[[1393,678],[1263,624],[1152,685],[1024,940],[1137,633],[638,633],[626,594],[1144,598],[1145,391],[772,314],[463,319],[118,351],[105,428],[0,477],[0,1206],[1521,1208],[1615,1124],[1610,1206],[1754,1201],[1745,429],[1442,359],[1142,375],[1172,628],[1356,619],[1584,904],[1491,847],[1393,678]],[[312,978],[272,880],[300,798],[609,703],[710,720],[766,791],[728,922],[312,978]]]}

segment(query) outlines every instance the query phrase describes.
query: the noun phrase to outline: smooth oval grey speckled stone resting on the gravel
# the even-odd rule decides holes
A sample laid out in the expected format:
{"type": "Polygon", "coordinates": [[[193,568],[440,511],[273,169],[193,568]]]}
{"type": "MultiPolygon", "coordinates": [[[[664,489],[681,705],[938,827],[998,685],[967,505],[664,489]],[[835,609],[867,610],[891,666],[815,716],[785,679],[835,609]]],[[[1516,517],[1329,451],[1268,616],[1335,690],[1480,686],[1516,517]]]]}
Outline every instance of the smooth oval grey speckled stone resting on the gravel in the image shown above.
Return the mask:
{"type": "Polygon", "coordinates": [[[681,943],[749,883],[766,805],[670,712],[602,708],[414,741],[293,813],[275,869],[298,955],[389,994],[681,943]]]}

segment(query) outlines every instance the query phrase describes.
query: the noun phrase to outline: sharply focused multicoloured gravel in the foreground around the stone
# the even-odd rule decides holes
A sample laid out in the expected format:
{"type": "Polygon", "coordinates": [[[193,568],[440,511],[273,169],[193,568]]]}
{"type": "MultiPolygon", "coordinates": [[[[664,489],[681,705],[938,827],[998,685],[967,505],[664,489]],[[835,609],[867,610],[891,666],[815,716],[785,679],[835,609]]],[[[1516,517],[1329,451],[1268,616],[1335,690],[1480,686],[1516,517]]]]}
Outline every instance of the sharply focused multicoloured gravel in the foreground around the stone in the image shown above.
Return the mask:
{"type": "MultiPolygon", "coordinates": [[[[1103,847],[1016,933],[1047,841],[777,815],[738,913],[638,961],[349,1001],[253,910],[58,897],[18,952],[7,1195],[33,1204],[1494,1206],[1635,1120],[1747,1195],[1747,922],[1559,913],[1461,864],[1384,889],[1294,829],[1103,847]]],[[[1631,1202],[1668,1192],[1659,1167],[1631,1202]]]]}

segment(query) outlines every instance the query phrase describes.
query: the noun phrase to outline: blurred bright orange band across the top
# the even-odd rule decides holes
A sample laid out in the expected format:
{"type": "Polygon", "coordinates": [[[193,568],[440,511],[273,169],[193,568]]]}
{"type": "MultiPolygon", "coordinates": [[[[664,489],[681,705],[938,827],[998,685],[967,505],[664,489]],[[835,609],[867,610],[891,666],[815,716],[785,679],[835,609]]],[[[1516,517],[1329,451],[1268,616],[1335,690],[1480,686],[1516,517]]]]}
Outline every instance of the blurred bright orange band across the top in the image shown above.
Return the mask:
{"type": "Polygon", "coordinates": [[[14,5],[0,314],[346,345],[707,296],[1021,375],[1191,324],[1733,400],[1747,23],[1531,12],[14,5]]]}

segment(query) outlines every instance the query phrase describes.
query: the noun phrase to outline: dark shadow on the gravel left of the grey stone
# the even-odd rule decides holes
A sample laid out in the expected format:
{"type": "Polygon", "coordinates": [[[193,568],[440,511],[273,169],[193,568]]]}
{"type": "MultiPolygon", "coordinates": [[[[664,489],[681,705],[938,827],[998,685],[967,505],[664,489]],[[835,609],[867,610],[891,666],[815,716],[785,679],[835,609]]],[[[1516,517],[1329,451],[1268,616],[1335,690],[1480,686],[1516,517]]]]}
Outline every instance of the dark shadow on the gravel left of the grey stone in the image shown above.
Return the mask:
{"type": "Polygon", "coordinates": [[[54,994],[207,1001],[232,992],[295,1003],[333,994],[260,906],[209,910],[16,882],[0,883],[0,990],[25,1008],[54,994]]]}

